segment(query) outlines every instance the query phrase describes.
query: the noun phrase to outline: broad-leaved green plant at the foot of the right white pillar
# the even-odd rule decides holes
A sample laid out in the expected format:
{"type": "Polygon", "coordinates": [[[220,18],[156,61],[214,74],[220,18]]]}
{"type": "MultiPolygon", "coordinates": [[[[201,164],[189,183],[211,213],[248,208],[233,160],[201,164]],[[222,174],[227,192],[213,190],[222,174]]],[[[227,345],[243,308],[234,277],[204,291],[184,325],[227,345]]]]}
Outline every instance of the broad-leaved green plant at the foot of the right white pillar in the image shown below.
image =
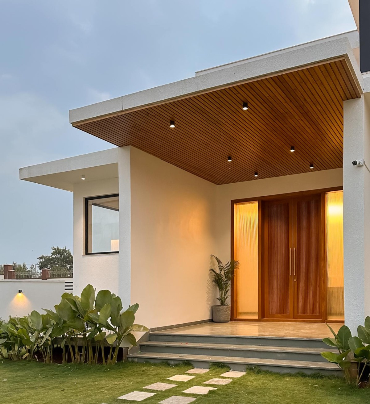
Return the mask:
{"type": "Polygon", "coordinates": [[[351,361],[348,359],[349,353],[352,353],[353,361],[358,362],[356,377],[356,385],[358,386],[364,370],[368,368],[370,362],[370,317],[366,317],[365,326],[360,325],[357,327],[358,337],[352,337],[351,331],[347,326],[341,326],[338,334],[329,325],[328,327],[334,338],[324,338],[322,341],[330,347],[336,347],[339,354],[329,351],[322,352],[321,356],[329,362],[336,363],[343,370],[347,383],[352,383],[349,372],[351,361]],[[362,368],[360,367],[360,363],[363,364],[362,368]]]}

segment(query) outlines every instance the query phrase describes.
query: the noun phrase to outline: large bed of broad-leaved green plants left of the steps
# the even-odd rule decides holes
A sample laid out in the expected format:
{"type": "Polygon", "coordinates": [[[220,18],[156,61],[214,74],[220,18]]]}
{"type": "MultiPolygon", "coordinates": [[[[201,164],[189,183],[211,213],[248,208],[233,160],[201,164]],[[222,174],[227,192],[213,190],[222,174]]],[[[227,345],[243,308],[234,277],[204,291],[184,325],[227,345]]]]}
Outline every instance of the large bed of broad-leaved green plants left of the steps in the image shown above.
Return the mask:
{"type": "MultiPolygon", "coordinates": [[[[115,364],[119,347],[136,346],[133,332],[145,332],[148,328],[134,324],[138,304],[124,310],[114,293],[100,290],[95,296],[95,291],[88,285],[81,297],[63,293],[55,311],[44,309],[46,314],[32,311],[25,317],[11,317],[0,324],[0,348],[4,347],[10,360],[33,360],[40,354],[44,362],[50,363],[53,348],[59,345],[63,363],[70,360],[89,364],[98,363],[100,349],[103,364],[115,364]],[[109,347],[107,358],[104,347],[109,347]]],[[[0,355],[4,358],[1,349],[0,355]]]]}

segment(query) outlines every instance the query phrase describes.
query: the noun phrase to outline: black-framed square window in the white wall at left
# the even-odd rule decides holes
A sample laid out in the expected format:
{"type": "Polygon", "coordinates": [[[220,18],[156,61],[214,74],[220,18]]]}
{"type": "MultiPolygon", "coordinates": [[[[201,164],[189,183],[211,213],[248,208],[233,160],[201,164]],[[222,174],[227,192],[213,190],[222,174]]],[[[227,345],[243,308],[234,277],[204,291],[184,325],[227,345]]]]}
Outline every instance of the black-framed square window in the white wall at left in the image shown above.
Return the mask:
{"type": "Polygon", "coordinates": [[[119,250],[118,195],[87,199],[87,253],[119,250]]]}

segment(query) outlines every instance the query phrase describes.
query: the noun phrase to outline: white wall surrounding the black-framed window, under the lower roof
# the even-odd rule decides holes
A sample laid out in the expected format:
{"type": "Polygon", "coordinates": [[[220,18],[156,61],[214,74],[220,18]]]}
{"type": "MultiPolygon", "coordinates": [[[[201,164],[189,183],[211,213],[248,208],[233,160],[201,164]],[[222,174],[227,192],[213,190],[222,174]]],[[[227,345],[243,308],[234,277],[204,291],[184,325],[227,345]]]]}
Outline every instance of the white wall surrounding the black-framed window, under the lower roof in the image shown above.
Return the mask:
{"type": "Polygon", "coordinates": [[[118,254],[84,255],[84,198],[118,193],[118,178],[73,185],[73,293],[87,284],[118,294],[118,254]]]}

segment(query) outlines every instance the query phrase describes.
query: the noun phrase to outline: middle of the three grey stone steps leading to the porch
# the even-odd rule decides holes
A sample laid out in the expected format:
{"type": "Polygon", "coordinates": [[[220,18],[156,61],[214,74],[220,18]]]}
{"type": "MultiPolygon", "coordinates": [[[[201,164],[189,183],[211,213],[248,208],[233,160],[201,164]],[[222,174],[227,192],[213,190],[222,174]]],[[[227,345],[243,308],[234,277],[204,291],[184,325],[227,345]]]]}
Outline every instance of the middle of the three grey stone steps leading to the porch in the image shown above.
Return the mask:
{"type": "Polygon", "coordinates": [[[232,356],[238,358],[279,359],[326,363],[326,360],[320,355],[322,352],[321,348],[147,341],[140,343],[140,351],[178,355],[232,356]]]}

